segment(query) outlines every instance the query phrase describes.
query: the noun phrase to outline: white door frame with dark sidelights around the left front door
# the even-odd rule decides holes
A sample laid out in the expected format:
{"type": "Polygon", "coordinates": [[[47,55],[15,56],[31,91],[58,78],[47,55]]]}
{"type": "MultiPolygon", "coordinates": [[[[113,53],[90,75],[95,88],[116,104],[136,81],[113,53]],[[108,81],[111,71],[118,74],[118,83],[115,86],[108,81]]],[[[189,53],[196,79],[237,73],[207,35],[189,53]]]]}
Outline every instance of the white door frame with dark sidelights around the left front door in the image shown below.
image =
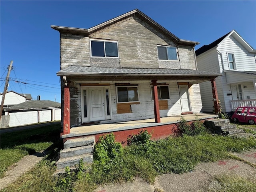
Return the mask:
{"type": "MultiPolygon", "coordinates": [[[[104,91],[104,110],[105,110],[105,119],[104,120],[111,120],[112,119],[112,109],[111,109],[111,93],[110,93],[110,86],[80,86],[80,90],[81,90],[81,123],[85,123],[85,122],[92,122],[90,120],[90,108],[89,108],[89,97],[88,97],[88,90],[89,88],[103,88],[104,91]],[[84,90],[86,90],[86,111],[87,111],[87,118],[83,118],[84,117],[84,90]],[[106,99],[106,90],[108,90],[108,102],[109,102],[109,112],[110,114],[108,115],[108,110],[107,110],[107,99],[106,99]]],[[[101,120],[102,121],[102,120],[101,120]]]]}

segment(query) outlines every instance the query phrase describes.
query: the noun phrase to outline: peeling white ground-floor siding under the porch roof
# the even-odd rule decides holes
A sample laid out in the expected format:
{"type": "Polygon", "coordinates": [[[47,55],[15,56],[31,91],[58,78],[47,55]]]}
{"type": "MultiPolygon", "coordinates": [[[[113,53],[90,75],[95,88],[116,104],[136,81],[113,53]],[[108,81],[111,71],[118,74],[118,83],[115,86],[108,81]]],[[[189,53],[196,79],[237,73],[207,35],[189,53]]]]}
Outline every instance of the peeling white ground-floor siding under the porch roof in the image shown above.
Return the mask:
{"type": "MultiPolygon", "coordinates": [[[[112,120],[109,122],[122,122],[129,120],[140,120],[154,118],[154,102],[151,98],[151,86],[150,81],[129,81],[131,84],[138,84],[139,100],[140,102],[129,103],[130,109],[126,113],[120,112],[120,106],[118,106],[116,98],[116,86],[115,83],[127,83],[128,81],[104,81],[104,82],[94,82],[94,83],[106,83],[110,84],[110,103],[112,109],[112,120]]],[[[161,81],[159,81],[161,82],[161,81]]],[[[173,116],[181,114],[181,103],[180,94],[178,89],[178,84],[176,82],[165,81],[169,84],[170,100],[163,101],[163,110],[160,110],[160,116],[173,116]],[[167,103],[167,105],[166,105],[167,103]],[[166,109],[166,107],[168,108],[166,109]]],[[[77,83],[92,83],[92,82],[77,82],[77,83]]],[[[194,113],[200,112],[202,109],[202,104],[200,104],[200,89],[199,85],[195,84],[189,88],[191,107],[194,113]]],[[[70,125],[81,124],[81,94],[80,94],[80,84],[77,84],[75,88],[70,90],[70,125]],[[72,103],[72,104],[71,104],[72,103]]]]}

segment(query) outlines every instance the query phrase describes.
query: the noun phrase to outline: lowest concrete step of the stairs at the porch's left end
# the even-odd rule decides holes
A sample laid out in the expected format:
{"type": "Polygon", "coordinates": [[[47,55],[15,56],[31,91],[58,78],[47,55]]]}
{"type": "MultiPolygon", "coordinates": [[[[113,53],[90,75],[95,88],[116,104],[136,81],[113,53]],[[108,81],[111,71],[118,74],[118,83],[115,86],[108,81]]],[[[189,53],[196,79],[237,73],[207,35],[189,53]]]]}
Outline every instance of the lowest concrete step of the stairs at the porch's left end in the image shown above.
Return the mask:
{"type": "Polygon", "coordinates": [[[92,163],[92,154],[82,154],[74,157],[62,158],[56,162],[57,169],[63,169],[66,166],[73,167],[83,159],[84,163],[92,163]]]}

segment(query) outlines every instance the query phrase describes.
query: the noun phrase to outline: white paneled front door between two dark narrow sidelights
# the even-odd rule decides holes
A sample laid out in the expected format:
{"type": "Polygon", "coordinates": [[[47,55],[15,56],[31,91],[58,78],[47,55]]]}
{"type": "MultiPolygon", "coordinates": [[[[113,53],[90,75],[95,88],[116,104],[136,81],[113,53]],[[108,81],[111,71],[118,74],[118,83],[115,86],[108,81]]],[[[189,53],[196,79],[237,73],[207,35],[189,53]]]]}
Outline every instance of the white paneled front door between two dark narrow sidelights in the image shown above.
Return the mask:
{"type": "Polygon", "coordinates": [[[89,88],[88,97],[90,121],[105,120],[104,88],[89,88]]]}

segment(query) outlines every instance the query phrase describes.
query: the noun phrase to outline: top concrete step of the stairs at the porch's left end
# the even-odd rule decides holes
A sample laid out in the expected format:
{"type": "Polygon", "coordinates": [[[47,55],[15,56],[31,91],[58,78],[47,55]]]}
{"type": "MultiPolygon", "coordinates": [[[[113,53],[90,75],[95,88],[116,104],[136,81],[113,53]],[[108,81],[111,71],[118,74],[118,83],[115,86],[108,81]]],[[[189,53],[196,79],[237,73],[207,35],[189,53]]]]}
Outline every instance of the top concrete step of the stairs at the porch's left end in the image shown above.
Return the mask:
{"type": "Polygon", "coordinates": [[[91,144],[94,144],[94,136],[69,139],[64,143],[64,149],[81,147],[81,146],[86,146],[91,144]]]}

